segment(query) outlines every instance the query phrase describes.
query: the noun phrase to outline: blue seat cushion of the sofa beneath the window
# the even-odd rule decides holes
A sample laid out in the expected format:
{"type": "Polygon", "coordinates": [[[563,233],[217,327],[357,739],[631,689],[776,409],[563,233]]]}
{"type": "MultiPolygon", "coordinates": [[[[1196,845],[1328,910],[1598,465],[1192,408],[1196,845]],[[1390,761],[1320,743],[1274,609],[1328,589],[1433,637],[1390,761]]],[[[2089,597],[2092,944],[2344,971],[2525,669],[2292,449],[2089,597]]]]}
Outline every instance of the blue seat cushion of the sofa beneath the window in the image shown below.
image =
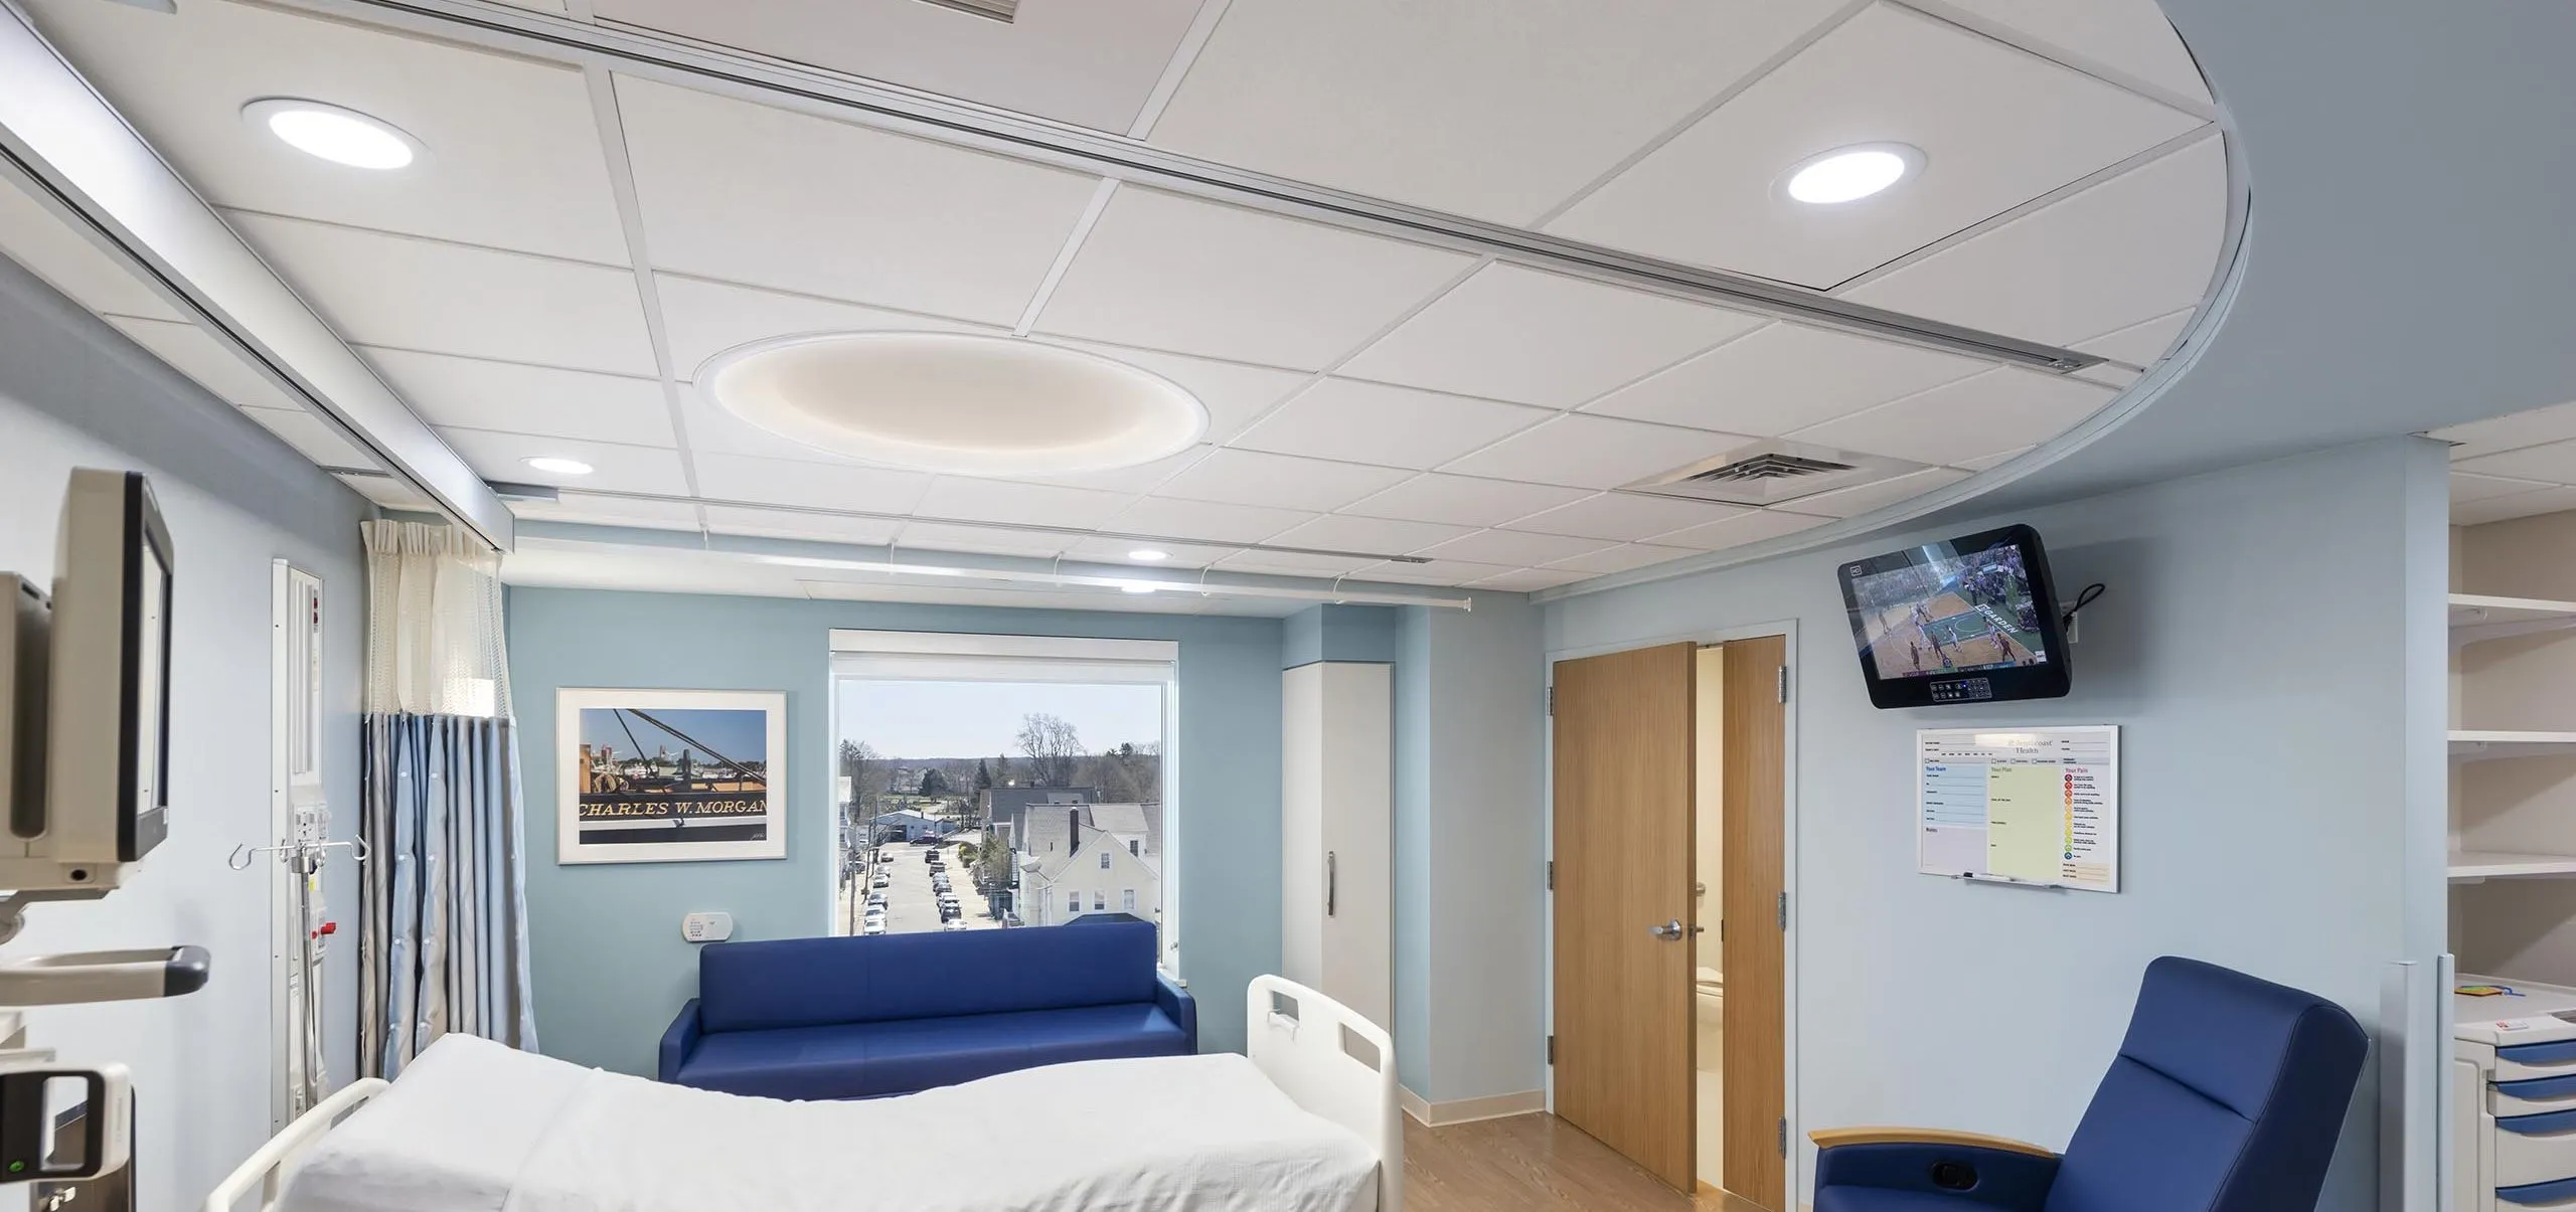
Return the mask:
{"type": "Polygon", "coordinates": [[[1185,1055],[1151,1001],[832,1027],[714,1032],[677,1081],[765,1099],[871,1099],[1066,1060],[1185,1055]]]}

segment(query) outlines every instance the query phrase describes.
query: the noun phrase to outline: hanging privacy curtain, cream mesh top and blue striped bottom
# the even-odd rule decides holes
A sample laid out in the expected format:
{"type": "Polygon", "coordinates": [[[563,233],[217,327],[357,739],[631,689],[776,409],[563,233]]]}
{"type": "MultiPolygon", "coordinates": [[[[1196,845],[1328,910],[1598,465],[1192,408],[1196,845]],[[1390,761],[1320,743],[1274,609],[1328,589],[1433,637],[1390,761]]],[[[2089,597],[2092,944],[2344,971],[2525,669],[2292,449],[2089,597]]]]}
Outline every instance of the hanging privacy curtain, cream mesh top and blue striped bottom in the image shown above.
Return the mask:
{"type": "Polygon", "coordinates": [[[363,533],[358,1070],[392,1078],[448,1032],[536,1050],[526,800],[500,556],[443,525],[363,533]]]}

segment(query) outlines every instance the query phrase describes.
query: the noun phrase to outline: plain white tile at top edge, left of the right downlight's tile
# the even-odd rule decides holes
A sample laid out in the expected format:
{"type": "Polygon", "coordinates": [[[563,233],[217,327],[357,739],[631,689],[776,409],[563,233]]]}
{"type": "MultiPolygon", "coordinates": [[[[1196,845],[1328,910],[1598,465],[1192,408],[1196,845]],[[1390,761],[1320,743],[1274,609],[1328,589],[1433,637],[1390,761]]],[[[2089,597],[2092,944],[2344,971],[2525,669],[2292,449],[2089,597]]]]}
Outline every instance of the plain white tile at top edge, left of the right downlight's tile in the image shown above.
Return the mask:
{"type": "Polygon", "coordinates": [[[1525,226],[1839,0],[1234,0],[1154,144],[1525,226]]]}

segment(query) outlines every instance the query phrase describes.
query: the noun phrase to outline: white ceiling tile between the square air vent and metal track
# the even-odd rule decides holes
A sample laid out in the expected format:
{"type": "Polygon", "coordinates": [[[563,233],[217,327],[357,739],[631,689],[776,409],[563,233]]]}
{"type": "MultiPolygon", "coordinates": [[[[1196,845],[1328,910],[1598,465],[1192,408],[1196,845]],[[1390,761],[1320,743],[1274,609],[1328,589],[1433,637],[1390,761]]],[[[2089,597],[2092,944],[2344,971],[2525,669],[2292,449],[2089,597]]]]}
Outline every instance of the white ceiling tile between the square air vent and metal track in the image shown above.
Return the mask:
{"type": "Polygon", "coordinates": [[[1914,345],[1770,324],[1584,404],[1584,412],[1777,437],[1991,365],[1914,345]]]}

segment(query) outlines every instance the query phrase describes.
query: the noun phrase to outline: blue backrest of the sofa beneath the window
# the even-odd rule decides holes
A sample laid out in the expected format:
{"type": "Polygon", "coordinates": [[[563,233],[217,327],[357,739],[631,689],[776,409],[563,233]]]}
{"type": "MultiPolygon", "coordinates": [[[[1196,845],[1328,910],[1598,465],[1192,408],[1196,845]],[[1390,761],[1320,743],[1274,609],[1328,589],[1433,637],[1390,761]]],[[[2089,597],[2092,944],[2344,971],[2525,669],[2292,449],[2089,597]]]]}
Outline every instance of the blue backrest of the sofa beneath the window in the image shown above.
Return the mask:
{"type": "Polygon", "coordinates": [[[1154,1001],[1151,921],[716,942],[698,952],[706,1032],[1126,1001],[1154,1001]]]}

